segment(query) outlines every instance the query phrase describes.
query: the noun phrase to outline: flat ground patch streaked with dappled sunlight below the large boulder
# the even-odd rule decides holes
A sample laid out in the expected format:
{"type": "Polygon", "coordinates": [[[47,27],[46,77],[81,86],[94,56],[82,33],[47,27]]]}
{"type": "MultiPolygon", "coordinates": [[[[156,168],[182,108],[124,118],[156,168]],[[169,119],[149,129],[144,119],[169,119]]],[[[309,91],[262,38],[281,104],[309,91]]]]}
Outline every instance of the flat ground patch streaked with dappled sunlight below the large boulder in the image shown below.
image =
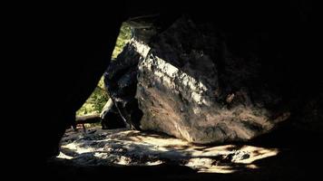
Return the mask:
{"type": "Polygon", "coordinates": [[[155,166],[165,163],[191,167],[197,172],[232,173],[257,169],[255,162],[273,157],[276,148],[225,145],[196,146],[178,138],[135,130],[99,128],[67,131],[59,158],[75,166],[155,166]]]}

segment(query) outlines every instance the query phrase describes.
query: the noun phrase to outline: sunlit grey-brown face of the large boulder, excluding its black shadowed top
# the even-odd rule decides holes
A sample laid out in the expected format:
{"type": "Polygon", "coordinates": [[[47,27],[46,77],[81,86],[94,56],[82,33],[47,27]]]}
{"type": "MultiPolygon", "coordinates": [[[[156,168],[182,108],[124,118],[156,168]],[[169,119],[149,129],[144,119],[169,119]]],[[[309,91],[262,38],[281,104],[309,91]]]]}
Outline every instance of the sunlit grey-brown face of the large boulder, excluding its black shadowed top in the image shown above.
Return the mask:
{"type": "Polygon", "coordinates": [[[197,63],[200,59],[192,58],[196,63],[190,59],[181,62],[161,57],[158,48],[150,51],[142,43],[136,46],[142,55],[135,96],[143,112],[142,129],[194,143],[224,143],[256,138],[289,118],[289,113],[284,113],[279,119],[271,119],[265,107],[246,103],[250,101],[247,90],[220,93],[218,77],[203,72],[216,67],[210,57],[202,56],[208,67],[197,63]]]}

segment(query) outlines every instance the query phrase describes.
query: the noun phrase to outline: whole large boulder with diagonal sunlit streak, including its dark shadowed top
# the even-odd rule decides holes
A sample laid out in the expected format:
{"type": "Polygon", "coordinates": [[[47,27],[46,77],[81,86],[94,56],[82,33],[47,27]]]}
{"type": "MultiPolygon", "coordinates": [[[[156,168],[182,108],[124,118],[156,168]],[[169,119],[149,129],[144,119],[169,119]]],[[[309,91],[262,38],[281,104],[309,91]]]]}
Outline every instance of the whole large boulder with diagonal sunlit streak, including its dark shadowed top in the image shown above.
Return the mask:
{"type": "Polygon", "coordinates": [[[289,118],[261,79],[259,57],[230,52],[211,24],[181,18],[142,46],[141,129],[194,143],[249,140],[289,118]],[[261,81],[259,81],[261,80],[261,81]]]}

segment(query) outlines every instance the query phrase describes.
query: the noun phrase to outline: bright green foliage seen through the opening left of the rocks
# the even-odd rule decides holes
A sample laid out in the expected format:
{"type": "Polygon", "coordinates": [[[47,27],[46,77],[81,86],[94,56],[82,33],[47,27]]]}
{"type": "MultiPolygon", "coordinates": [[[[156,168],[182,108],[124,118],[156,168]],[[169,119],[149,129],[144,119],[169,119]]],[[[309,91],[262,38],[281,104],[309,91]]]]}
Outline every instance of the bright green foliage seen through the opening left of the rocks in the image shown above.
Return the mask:
{"type": "MultiPolygon", "coordinates": [[[[117,42],[115,43],[115,47],[113,50],[112,59],[114,60],[120,52],[122,52],[123,46],[128,43],[131,38],[130,27],[126,24],[122,24],[120,29],[119,36],[117,38],[117,42]]],[[[88,100],[85,101],[82,108],[77,110],[76,115],[82,116],[85,114],[93,114],[100,113],[106,103],[109,100],[109,95],[105,90],[103,77],[99,81],[95,90],[91,94],[88,100]]]]}

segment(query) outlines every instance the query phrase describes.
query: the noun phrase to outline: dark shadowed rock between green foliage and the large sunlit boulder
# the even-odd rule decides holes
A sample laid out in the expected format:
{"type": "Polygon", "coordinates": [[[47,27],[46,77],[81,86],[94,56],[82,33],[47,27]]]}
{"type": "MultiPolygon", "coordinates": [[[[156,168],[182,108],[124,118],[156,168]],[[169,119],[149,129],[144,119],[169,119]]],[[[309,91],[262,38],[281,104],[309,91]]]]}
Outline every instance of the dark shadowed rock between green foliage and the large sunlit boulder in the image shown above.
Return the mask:
{"type": "Polygon", "coordinates": [[[142,118],[142,110],[139,110],[138,100],[134,98],[139,59],[139,52],[132,43],[128,43],[104,73],[104,83],[114,106],[131,129],[140,129],[142,118]]]}

